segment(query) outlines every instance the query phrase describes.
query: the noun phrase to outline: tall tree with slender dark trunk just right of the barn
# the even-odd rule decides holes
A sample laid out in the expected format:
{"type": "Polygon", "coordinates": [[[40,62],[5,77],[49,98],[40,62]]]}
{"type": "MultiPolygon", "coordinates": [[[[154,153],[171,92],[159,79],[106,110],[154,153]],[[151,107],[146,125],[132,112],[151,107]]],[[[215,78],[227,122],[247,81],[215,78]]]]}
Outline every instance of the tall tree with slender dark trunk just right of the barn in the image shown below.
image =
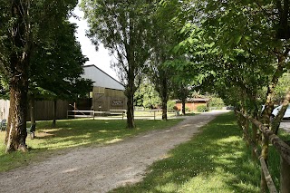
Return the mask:
{"type": "Polygon", "coordinates": [[[90,25],[89,37],[98,48],[103,43],[117,59],[113,66],[119,70],[127,96],[127,127],[135,127],[133,96],[140,84],[140,74],[149,57],[144,42],[148,35],[147,1],[141,0],[83,0],[82,9],[90,25]]]}

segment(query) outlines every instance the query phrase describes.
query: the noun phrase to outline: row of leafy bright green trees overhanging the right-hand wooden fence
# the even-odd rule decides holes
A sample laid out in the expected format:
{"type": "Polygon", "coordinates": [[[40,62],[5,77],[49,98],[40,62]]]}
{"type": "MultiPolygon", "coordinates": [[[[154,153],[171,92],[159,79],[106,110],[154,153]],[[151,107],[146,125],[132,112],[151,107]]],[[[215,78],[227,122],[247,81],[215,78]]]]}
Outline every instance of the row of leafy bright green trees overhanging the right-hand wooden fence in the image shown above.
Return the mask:
{"type": "MultiPolygon", "coordinates": [[[[281,91],[277,85],[290,67],[289,1],[187,4],[191,7],[188,15],[194,19],[185,25],[184,31],[189,35],[179,43],[177,51],[192,57],[192,66],[202,74],[204,88],[218,92],[237,111],[255,117],[277,133],[290,100],[290,87],[286,84],[283,108],[270,121],[277,102],[275,92],[281,91]],[[265,109],[261,112],[262,104],[265,109]]],[[[268,143],[268,137],[262,135],[262,147],[268,143]]],[[[266,160],[267,151],[263,148],[261,153],[266,160]]],[[[264,175],[261,178],[261,192],[266,192],[266,179],[264,175]]]]}

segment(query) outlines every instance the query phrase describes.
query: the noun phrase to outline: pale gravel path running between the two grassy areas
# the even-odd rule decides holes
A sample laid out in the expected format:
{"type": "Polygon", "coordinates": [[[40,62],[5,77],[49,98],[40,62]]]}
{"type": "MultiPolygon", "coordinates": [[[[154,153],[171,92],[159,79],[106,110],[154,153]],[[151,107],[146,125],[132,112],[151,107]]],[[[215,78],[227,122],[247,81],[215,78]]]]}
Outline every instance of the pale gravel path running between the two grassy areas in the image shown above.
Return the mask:
{"type": "MultiPolygon", "coordinates": [[[[142,179],[145,169],[222,112],[189,117],[168,130],[99,148],[80,148],[34,166],[0,173],[0,192],[107,192],[142,179]]],[[[1,164],[1,163],[0,163],[1,164]]]]}

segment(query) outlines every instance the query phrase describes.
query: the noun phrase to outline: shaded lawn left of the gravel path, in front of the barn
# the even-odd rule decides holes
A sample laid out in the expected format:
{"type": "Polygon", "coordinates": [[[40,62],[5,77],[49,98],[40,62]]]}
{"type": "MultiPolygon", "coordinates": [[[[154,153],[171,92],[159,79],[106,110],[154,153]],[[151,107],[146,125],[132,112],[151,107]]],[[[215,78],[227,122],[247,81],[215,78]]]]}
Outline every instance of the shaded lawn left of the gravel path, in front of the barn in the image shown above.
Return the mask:
{"type": "Polygon", "coordinates": [[[64,120],[57,121],[57,127],[52,128],[52,121],[37,121],[35,139],[27,137],[28,153],[14,152],[5,154],[5,132],[0,132],[0,171],[24,166],[32,161],[42,160],[52,153],[62,153],[58,150],[102,145],[123,140],[147,130],[169,128],[179,120],[142,121],[136,120],[136,129],[128,130],[126,120],[64,120]]]}

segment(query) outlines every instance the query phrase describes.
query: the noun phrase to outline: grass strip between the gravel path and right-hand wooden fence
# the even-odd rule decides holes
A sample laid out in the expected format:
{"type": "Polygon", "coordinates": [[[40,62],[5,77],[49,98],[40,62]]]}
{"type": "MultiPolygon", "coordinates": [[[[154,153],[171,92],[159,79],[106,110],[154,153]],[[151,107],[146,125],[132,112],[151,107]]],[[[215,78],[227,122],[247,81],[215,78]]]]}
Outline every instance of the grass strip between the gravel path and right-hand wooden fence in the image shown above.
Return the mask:
{"type": "Polygon", "coordinates": [[[259,192],[260,169],[234,114],[220,115],[201,130],[155,162],[140,183],[111,192],[259,192]]]}

